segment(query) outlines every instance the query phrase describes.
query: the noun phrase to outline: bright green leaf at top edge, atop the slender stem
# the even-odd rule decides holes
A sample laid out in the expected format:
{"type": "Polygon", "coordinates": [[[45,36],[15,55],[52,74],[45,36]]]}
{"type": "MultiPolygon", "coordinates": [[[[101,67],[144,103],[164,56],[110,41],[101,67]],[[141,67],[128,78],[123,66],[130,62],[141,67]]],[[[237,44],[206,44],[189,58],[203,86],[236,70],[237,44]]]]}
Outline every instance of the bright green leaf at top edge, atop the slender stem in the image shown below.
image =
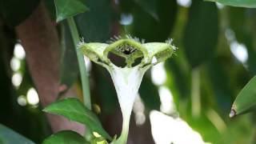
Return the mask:
{"type": "Polygon", "coordinates": [[[54,0],[54,3],[57,22],[89,10],[83,0],[54,0]]]}

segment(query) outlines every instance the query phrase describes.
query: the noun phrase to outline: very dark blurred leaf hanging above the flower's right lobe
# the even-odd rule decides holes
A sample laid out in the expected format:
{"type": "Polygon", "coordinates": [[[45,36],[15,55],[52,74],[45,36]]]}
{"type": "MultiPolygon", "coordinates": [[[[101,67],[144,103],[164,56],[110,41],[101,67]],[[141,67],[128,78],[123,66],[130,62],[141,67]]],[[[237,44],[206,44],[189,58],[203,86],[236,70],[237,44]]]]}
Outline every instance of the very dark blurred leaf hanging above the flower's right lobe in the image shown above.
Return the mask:
{"type": "Polygon", "coordinates": [[[173,29],[177,7],[176,1],[169,0],[138,2],[134,6],[132,34],[146,42],[164,42],[173,29]]]}

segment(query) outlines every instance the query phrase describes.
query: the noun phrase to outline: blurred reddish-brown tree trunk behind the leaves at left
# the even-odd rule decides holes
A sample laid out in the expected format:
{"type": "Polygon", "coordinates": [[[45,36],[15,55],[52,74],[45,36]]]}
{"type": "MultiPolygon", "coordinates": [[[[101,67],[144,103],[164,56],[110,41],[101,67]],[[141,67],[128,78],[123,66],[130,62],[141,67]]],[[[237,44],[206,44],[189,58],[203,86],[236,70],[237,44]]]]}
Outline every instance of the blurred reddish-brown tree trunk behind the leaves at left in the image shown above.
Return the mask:
{"type": "MultiPolygon", "coordinates": [[[[47,106],[58,97],[60,75],[60,46],[54,22],[47,14],[43,2],[26,21],[16,27],[18,38],[26,51],[26,62],[42,106],[47,106]]],[[[84,126],[68,119],[47,114],[54,132],[75,130],[84,133],[84,126]]]]}

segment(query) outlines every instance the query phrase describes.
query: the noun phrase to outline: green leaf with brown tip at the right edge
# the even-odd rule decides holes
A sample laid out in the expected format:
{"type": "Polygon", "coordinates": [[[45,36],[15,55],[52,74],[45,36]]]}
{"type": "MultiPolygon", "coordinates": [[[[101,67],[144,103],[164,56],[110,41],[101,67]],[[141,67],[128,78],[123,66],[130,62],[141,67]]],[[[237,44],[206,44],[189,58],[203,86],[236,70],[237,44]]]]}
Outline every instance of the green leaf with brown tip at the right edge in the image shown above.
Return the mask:
{"type": "Polygon", "coordinates": [[[238,97],[234,100],[232,109],[230,111],[230,117],[234,117],[237,114],[244,114],[254,110],[256,108],[256,76],[250,79],[250,82],[246,84],[238,94],[238,97]]]}

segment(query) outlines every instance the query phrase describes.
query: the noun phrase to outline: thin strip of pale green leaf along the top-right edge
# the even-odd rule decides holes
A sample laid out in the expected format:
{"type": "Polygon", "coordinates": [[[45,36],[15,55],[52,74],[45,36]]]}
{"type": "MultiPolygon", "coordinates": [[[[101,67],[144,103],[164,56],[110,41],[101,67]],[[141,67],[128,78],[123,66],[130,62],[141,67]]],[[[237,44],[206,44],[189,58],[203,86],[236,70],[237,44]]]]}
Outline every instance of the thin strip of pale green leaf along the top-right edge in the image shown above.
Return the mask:
{"type": "Polygon", "coordinates": [[[227,6],[239,6],[239,7],[249,7],[249,8],[256,7],[255,0],[206,0],[206,1],[220,2],[223,5],[227,5],[227,6]]]}

